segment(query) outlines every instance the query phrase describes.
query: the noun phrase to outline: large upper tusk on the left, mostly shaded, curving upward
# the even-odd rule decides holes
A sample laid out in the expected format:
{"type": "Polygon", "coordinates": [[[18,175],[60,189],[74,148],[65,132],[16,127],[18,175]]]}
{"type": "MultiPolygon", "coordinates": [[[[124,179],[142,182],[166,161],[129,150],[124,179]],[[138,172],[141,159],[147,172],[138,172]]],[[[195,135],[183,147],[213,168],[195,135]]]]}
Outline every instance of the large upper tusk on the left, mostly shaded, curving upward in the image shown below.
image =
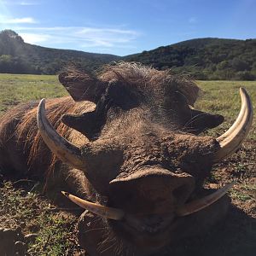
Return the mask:
{"type": "Polygon", "coordinates": [[[38,105],[38,130],[44,139],[44,143],[61,161],[77,169],[83,170],[81,152],[78,147],[69,143],[64,137],[61,137],[49,123],[45,114],[45,100],[41,100],[38,105]]]}

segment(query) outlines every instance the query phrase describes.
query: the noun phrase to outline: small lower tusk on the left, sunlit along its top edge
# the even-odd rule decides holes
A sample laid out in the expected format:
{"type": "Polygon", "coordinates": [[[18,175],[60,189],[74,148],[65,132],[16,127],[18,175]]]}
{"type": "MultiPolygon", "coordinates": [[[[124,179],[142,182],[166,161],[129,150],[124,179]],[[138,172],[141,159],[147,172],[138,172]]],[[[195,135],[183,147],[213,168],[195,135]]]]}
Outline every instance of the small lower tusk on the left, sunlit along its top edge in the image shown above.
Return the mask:
{"type": "Polygon", "coordinates": [[[79,207],[95,213],[96,215],[102,216],[103,218],[120,220],[125,216],[125,212],[120,209],[98,205],[96,203],[83,200],[75,195],[71,195],[64,191],[61,191],[61,193],[63,195],[66,195],[67,198],[73,201],[75,204],[79,205],[79,207]]]}

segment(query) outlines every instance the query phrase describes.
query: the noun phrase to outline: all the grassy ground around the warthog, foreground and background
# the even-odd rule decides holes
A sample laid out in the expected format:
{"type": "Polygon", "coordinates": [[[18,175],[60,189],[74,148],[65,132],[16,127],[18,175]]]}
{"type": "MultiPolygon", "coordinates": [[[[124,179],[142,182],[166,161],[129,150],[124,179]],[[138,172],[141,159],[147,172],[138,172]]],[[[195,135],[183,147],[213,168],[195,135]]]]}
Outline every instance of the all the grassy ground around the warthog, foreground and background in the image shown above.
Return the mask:
{"type": "MultiPolygon", "coordinates": [[[[196,108],[220,113],[225,117],[224,124],[208,131],[208,135],[218,136],[236,119],[241,104],[239,96],[241,85],[247,89],[256,106],[256,82],[198,81],[197,84],[201,87],[202,93],[196,108]]],[[[67,95],[67,91],[59,84],[56,76],[0,74],[0,117],[20,102],[64,95],[67,95]]],[[[205,245],[197,248],[193,255],[255,255],[255,148],[256,123],[254,121],[253,129],[241,150],[215,166],[212,177],[207,182],[208,187],[215,189],[221,183],[237,181],[230,192],[233,208],[224,230],[217,235],[216,241],[206,237],[205,245]],[[237,233],[236,236],[235,233],[237,233]]],[[[56,209],[50,201],[40,195],[40,184],[22,180],[15,183],[6,182],[1,175],[0,184],[0,236],[1,228],[20,226],[23,235],[37,234],[34,240],[28,242],[26,255],[84,254],[75,236],[75,223],[78,217],[56,209]]]]}

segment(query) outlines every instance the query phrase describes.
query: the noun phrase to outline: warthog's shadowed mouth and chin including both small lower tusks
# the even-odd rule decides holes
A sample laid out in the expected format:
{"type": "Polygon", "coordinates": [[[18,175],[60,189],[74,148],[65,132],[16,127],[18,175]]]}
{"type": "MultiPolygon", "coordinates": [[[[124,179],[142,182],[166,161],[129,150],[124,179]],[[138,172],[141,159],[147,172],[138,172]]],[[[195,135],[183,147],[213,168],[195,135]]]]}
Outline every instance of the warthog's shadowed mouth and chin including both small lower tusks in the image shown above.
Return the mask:
{"type": "Polygon", "coordinates": [[[67,192],[62,193],[80,207],[102,218],[108,218],[108,224],[119,237],[123,237],[126,241],[130,241],[138,247],[147,246],[148,248],[157,249],[166,244],[166,237],[175,233],[183,218],[195,212],[200,212],[210,207],[214,202],[221,200],[233,185],[234,183],[229,183],[210,195],[197,200],[189,200],[172,212],[160,214],[150,212],[143,214],[127,213],[119,208],[102,206],[85,201],[67,192]]]}

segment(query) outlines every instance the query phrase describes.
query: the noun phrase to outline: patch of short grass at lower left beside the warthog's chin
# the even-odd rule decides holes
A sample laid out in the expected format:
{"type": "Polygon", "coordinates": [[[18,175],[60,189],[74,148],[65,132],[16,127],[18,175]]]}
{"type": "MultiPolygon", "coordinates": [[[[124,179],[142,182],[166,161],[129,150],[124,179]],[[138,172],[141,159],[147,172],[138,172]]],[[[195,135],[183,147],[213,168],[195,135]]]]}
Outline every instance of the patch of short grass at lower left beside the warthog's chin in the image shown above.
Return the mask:
{"type": "Polygon", "coordinates": [[[17,189],[13,183],[3,182],[0,209],[0,228],[20,226],[23,235],[37,234],[35,241],[28,244],[26,255],[79,252],[79,246],[74,243],[77,218],[67,212],[51,212],[55,207],[38,192],[17,189]]]}

